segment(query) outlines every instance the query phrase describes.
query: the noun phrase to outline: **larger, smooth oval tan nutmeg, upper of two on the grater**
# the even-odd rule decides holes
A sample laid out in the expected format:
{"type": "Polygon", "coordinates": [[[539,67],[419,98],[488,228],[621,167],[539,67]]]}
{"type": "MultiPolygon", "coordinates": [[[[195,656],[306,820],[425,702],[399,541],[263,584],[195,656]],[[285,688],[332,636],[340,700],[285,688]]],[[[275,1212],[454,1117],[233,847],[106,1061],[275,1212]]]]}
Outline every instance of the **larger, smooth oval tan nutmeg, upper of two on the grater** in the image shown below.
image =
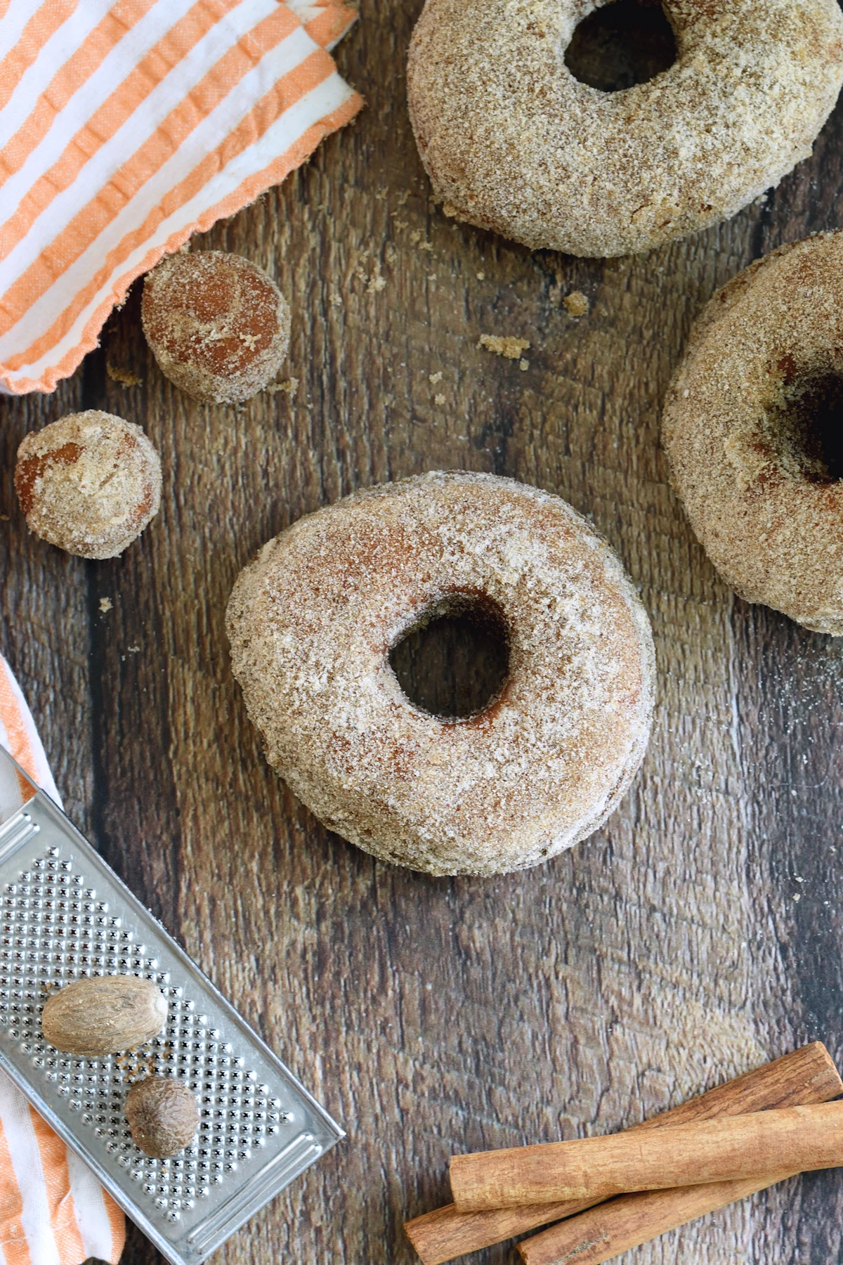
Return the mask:
{"type": "Polygon", "coordinates": [[[76,979],[44,1006],[44,1040],[81,1059],[136,1050],[167,1022],[167,998],[149,979],[95,975],[76,979]]]}

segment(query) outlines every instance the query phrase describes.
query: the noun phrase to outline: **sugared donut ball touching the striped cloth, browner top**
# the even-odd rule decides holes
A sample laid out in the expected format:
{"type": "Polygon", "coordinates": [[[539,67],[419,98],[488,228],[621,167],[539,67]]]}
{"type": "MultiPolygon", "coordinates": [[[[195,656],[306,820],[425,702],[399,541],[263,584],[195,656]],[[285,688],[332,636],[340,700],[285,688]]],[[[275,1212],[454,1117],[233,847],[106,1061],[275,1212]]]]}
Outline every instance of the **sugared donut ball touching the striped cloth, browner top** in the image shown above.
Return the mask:
{"type": "Polygon", "coordinates": [[[240,404],[274,378],[289,349],[289,307],[249,259],[198,250],[147,276],[142,321],[158,367],[203,404],[240,404]]]}

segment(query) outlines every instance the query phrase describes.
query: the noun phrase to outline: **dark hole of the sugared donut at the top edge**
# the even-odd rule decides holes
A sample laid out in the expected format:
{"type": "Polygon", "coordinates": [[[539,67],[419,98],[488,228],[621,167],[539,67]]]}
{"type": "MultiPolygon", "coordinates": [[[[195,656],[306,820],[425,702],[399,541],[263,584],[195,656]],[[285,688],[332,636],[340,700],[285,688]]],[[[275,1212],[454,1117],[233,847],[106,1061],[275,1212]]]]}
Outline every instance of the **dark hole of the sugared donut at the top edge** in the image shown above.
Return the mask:
{"type": "Polygon", "coordinates": [[[621,92],[670,70],[676,57],[674,28],[658,0],[614,0],[578,25],[565,65],[581,83],[621,92]]]}

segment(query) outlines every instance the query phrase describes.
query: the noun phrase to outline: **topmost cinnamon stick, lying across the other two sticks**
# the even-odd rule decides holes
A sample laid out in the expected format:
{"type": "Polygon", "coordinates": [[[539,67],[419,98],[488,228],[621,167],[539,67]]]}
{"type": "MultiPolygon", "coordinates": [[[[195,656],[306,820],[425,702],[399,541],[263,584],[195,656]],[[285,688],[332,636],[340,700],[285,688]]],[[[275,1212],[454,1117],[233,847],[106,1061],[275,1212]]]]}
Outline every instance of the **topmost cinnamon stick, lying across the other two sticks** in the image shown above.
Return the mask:
{"type": "Polygon", "coordinates": [[[607,1199],[632,1190],[763,1180],[843,1165],[843,1103],[785,1107],[724,1120],[628,1131],[574,1142],[455,1155],[458,1208],[508,1208],[560,1199],[607,1199]]]}

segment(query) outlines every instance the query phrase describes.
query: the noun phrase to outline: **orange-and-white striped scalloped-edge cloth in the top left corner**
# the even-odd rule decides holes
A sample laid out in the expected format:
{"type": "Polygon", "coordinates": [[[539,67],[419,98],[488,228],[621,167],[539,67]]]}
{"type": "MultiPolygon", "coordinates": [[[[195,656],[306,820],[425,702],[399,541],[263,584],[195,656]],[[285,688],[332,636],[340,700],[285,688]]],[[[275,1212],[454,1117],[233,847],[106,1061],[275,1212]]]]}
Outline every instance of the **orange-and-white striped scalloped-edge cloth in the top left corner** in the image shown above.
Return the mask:
{"type": "Polygon", "coordinates": [[[53,391],[142,273],[348,123],[343,0],[0,0],[0,391],[53,391]]]}

